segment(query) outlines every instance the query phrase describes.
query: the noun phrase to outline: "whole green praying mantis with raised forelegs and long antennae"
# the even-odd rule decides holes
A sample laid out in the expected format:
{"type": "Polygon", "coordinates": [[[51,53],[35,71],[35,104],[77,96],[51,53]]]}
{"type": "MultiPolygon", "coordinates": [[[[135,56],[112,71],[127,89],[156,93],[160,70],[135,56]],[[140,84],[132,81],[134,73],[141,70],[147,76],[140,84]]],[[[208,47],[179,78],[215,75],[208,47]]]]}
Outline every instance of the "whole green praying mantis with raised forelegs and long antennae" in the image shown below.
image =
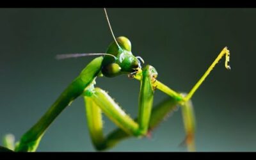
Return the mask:
{"type": "Polygon", "coordinates": [[[220,52],[216,60],[207,69],[205,74],[193,86],[188,94],[178,93],[157,80],[156,68],[145,65],[140,56],[134,56],[131,52],[131,42],[125,36],[115,38],[112,31],[108,13],[104,8],[108,26],[114,41],[109,45],[105,53],[84,53],[84,54],[60,54],[58,59],[72,58],[79,56],[99,56],[93,59],[61,93],[60,97],[52,104],[51,108],[29,129],[20,140],[14,145],[13,137],[8,135],[4,138],[4,145],[1,150],[16,152],[35,152],[42,136],[54,119],[60,115],[63,109],[77,99],[83,97],[88,129],[92,143],[97,150],[106,150],[114,147],[118,142],[129,137],[141,138],[147,136],[168,113],[176,106],[182,109],[182,117],[186,138],[184,143],[189,151],[195,151],[195,115],[191,97],[205,78],[210,74],[214,66],[225,56],[225,68],[230,70],[228,65],[230,52],[227,47],[220,52]],[[127,74],[129,78],[140,81],[139,111],[138,118],[131,118],[116,102],[101,88],[95,87],[98,77],[116,77],[127,74]],[[154,91],[161,90],[170,96],[154,108],[154,91]],[[118,128],[104,136],[102,113],[112,120],[118,128]]]}

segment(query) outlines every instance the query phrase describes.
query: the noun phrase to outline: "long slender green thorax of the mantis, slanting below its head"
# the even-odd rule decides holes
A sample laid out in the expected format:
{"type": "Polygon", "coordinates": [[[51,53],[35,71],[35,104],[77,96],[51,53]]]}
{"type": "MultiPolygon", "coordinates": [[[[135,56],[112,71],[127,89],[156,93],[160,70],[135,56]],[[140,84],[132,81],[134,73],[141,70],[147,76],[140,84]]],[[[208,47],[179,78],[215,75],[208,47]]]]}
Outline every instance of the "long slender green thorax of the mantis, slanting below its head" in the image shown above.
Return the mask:
{"type": "Polygon", "coordinates": [[[81,74],[68,85],[42,118],[20,138],[15,151],[33,152],[36,150],[44,132],[53,120],[95,80],[95,77],[100,72],[102,60],[102,57],[95,58],[83,69],[81,74]]]}

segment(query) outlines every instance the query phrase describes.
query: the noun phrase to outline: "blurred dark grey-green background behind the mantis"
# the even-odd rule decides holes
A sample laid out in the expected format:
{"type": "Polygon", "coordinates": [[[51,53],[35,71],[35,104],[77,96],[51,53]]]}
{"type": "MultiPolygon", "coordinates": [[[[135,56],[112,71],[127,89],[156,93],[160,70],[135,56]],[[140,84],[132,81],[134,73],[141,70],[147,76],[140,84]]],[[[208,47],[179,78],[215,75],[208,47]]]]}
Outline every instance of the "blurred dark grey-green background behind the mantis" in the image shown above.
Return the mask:
{"type": "MultiPolygon", "coordinates": [[[[132,52],[156,67],[158,79],[188,92],[223,47],[224,60],[193,97],[198,151],[256,151],[256,9],[109,8],[116,36],[127,36],[132,52]]],[[[93,57],[56,60],[56,54],[104,52],[113,41],[101,8],[0,9],[0,137],[20,138],[42,116],[93,57]]],[[[127,76],[97,79],[132,117],[140,83],[127,76]]],[[[167,96],[156,92],[154,104],[167,96]]],[[[115,128],[104,117],[105,131],[115,128]]],[[[122,141],[109,151],[186,151],[180,110],[152,138],[122,141]]],[[[54,121],[38,151],[95,151],[83,99],[54,121]]]]}

